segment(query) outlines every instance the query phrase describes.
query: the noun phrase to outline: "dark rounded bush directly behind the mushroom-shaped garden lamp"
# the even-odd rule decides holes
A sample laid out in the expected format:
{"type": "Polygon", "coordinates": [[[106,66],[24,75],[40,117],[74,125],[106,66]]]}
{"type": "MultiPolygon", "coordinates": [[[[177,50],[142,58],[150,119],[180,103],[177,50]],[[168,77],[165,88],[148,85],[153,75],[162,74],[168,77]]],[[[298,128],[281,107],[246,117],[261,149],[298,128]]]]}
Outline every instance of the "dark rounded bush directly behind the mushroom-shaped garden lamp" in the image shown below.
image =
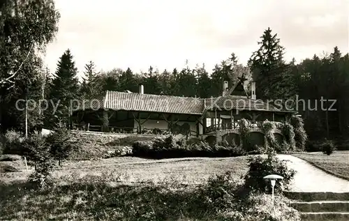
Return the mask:
{"type": "Polygon", "coordinates": [[[275,191],[280,192],[283,188],[288,189],[288,185],[295,176],[293,169],[288,169],[285,162],[279,160],[274,152],[269,152],[267,158],[261,156],[248,159],[249,169],[245,176],[246,187],[250,190],[271,192],[272,188],[269,181],[263,177],[269,174],[283,176],[283,180],[276,182],[275,191]]]}

